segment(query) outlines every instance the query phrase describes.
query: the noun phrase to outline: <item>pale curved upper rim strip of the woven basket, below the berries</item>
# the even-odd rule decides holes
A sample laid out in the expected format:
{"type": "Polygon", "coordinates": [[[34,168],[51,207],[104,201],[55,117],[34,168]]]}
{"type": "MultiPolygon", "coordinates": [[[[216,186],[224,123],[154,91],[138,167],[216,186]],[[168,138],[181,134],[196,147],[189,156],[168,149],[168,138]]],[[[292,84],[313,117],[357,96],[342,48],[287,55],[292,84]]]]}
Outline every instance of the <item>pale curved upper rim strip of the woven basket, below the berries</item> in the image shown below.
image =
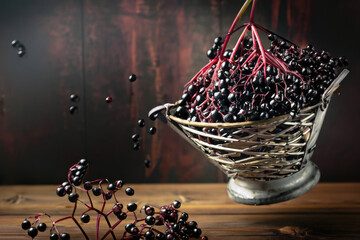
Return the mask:
{"type": "MultiPolygon", "coordinates": [[[[321,103],[318,103],[313,106],[303,108],[300,110],[300,113],[305,113],[305,112],[311,111],[313,109],[317,109],[320,105],[321,105],[321,103]]],[[[244,126],[253,126],[253,125],[265,125],[265,124],[269,124],[269,123],[273,123],[273,122],[277,122],[277,121],[281,121],[281,120],[291,119],[290,114],[284,114],[284,115],[280,115],[280,116],[273,117],[270,119],[265,119],[265,120],[235,122],[235,123],[193,122],[193,121],[181,119],[181,118],[178,118],[178,117],[175,117],[175,116],[169,114],[169,109],[172,107],[175,107],[175,106],[177,106],[177,102],[166,108],[166,118],[168,118],[171,121],[174,121],[178,124],[188,125],[188,126],[192,126],[192,127],[234,128],[234,127],[244,127],[244,126]]]]}

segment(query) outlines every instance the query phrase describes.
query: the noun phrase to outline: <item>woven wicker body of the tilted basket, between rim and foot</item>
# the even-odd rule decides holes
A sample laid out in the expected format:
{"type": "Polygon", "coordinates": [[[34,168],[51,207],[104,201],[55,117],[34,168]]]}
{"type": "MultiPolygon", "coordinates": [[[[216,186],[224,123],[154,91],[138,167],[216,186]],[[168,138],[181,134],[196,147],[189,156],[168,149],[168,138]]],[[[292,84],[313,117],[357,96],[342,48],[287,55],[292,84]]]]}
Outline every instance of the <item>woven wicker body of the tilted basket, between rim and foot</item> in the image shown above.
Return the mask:
{"type": "Polygon", "coordinates": [[[317,111],[318,107],[313,106],[294,119],[286,115],[238,126],[222,123],[212,127],[206,123],[194,126],[190,121],[168,116],[228,177],[273,180],[292,175],[304,166],[317,111]]]}

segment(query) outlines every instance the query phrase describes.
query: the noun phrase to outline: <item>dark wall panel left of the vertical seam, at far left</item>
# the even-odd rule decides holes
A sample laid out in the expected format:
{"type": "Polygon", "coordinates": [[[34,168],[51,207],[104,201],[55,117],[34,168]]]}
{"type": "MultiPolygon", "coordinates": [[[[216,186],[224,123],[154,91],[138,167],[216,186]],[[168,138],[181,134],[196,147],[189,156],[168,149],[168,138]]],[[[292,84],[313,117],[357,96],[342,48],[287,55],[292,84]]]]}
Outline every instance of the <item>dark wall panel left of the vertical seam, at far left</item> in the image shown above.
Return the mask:
{"type": "Polygon", "coordinates": [[[82,97],[79,3],[1,2],[0,184],[56,182],[84,151],[83,115],[68,112],[82,97]]]}

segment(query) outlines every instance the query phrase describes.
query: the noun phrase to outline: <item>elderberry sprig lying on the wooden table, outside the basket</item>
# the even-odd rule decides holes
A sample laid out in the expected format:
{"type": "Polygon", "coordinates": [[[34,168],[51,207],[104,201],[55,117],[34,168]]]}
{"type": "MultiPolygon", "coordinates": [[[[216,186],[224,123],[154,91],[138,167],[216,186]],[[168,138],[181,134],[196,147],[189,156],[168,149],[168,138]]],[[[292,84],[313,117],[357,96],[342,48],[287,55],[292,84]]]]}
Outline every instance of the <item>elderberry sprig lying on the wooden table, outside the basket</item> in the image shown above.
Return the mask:
{"type": "MultiPolygon", "coordinates": [[[[181,206],[179,201],[175,200],[172,204],[162,207],[144,205],[140,211],[136,213],[138,206],[135,202],[129,202],[125,205],[126,207],[124,207],[124,204],[116,197],[116,193],[120,191],[124,185],[122,180],[110,182],[108,179],[98,179],[95,181],[85,181],[83,186],[80,186],[83,182],[85,174],[87,173],[87,169],[88,162],[85,159],[80,160],[69,169],[67,182],[62,183],[56,190],[57,195],[60,197],[69,194],[69,201],[74,203],[72,215],[58,220],[52,219],[47,213],[40,213],[36,216],[26,218],[22,222],[21,227],[22,229],[27,230],[27,233],[31,238],[35,238],[39,232],[44,232],[47,229],[46,224],[40,219],[47,217],[51,222],[50,240],[70,239],[70,235],[68,233],[62,232],[58,229],[57,224],[65,220],[72,220],[80,229],[84,238],[88,240],[90,238],[79,224],[79,220],[85,224],[89,223],[91,221],[91,214],[94,214],[94,219],[96,219],[96,239],[105,239],[109,235],[113,239],[122,240],[186,240],[201,237],[202,231],[198,227],[197,223],[195,221],[188,221],[188,214],[179,211],[181,206]],[[76,174],[78,171],[80,173],[76,174]],[[76,180],[77,177],[79,177],[81,181],[76,180]],[[87,200],[80,200],[77,192],[85,192],[87,200]],[[94,205],[95,201],[92,200],[92,197],[99,197],[102,201],[100,208],[97,208],[94,205]],[[111,199],[114,203],[112,204],[110,210],[106,210],[105,206],[107,206],[111,199]],[[80,216],[76,214],[78,204],[83,204],[86,208],[80,216]],[[145,213],[146,216],[140,218],[138,214],[142,213],[145,213]],[[112,214],[117,218],[115,223],[111,223],[109,220],[109,217],[112,214]],[[116,228],[120,225],[120,223],[122,223],[122,221],[128,219],[129,216],[133,216],[134,220],[125,225],[125,231],[120,236],[116,237],[115,233],[118,232],[116,228]],[[105,220],[107,228],[105,231],[101,231],[102,236],[100,236],[100,221],[102,219],[105,220]],[[30,222],[30,220],[34,221],[30,222]],[[163,226],[162,230],[157,229],[158,226],[163,226]]],[[[133,196],[135,191],[133,188],[127,187],[125,189],[125,194],[133,196]]],[[[201,237],[201,240],[207,240],[207,237],[203,236],[201,237]]]]}

